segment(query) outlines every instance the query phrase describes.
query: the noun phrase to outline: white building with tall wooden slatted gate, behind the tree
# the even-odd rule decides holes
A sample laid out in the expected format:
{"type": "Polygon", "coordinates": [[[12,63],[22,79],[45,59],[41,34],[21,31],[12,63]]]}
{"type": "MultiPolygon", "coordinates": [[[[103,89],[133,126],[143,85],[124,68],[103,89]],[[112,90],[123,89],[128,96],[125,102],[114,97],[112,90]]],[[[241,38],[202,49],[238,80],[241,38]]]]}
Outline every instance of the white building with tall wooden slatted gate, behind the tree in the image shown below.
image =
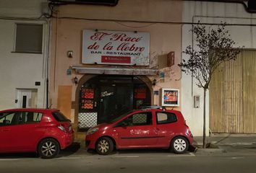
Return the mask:
{"type": "MultiPolygon", "coordinates": [[[[226,22],[226,30],[236,42],[235,46],[242,49],[236,61],[223,63],[213,75],[206,103],[207,132],[256,133],[256,14],[249,13],[244,3],[184,1],[183,22],[200,21],[208,28],[226,22]]],[[[192,25],[182,27],[182,50],[187,45],[195,46],[191,30],[192,25]]],[[[182,54],[182,58],[188,57],[182,54]]],[[[196,82],[191,76],[182,74],[182,112],[195,135],[202,136],[203,89],[199,89],[196,82]],[[193,104],[195,96],[200,98],[198,108],[193,104]]]]}

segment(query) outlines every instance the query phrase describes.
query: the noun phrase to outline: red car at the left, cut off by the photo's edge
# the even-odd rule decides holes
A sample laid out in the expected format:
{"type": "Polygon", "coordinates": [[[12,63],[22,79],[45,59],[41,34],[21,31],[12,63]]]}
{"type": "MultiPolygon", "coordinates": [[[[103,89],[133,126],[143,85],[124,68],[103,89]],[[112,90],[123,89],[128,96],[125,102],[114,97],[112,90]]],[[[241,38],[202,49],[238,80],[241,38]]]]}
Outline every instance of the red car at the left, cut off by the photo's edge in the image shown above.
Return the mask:
{"type": "Polygon", "coordinates": [[[59,110],[0,111],[0,153],[37,152],[50,159],[74,140],[70,121],[59,110]]]}

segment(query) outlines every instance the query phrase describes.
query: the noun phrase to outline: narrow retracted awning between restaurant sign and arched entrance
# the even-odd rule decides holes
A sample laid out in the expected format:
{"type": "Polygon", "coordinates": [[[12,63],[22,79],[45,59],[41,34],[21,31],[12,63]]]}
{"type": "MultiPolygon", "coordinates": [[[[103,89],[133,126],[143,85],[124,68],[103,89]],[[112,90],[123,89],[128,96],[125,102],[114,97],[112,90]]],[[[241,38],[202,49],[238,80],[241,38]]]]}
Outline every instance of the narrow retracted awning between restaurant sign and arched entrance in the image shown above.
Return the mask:
{"type": "Polygon", "coordinates": [[[157,75],[157,69],[124,67],[85,67],[72,66],[78,74],[121,74],[121,75],[157,75]]]}

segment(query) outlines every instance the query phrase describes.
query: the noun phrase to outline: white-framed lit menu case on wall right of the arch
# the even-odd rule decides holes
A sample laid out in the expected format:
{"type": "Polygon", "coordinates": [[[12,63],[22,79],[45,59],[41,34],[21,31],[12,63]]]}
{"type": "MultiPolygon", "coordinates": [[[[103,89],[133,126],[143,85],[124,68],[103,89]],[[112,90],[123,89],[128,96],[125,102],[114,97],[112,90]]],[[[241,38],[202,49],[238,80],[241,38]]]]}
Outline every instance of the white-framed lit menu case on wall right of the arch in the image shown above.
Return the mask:
{"type": "Polygon", "coordinates": [[[161,89],[162,106],[179,107],[179,89],[161,89]]]}

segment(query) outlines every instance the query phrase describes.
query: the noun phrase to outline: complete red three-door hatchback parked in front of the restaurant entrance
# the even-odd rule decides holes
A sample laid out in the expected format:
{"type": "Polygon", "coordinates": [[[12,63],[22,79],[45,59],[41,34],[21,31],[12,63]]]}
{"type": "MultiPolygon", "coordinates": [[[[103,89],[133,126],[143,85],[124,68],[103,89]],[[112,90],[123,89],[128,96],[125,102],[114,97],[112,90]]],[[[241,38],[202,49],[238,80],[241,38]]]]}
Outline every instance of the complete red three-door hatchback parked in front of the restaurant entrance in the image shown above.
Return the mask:
{"type": "Polygon", "coordinates": [[[187,151],[193,136],[182,113],[164,107],[142,108],[121,115],[109,123],[88,130],[85,144],[106,155],[125,148],[171,148],[176,154],[187,151]]]}

